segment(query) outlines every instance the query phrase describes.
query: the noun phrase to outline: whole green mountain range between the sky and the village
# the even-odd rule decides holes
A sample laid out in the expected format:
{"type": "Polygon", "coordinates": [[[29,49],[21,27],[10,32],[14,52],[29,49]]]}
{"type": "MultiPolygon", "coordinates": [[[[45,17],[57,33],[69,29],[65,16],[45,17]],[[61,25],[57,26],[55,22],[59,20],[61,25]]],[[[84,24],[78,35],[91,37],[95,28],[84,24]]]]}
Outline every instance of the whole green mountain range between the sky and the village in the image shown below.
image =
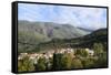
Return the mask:
{"type": "Polygon", "coordinates": [[[52,22],[18,22],[18,52],[39,52],[53,46],[92,47],[93,43],[107,44],[107,29],[89,31],[70,24],[52,22]]]}

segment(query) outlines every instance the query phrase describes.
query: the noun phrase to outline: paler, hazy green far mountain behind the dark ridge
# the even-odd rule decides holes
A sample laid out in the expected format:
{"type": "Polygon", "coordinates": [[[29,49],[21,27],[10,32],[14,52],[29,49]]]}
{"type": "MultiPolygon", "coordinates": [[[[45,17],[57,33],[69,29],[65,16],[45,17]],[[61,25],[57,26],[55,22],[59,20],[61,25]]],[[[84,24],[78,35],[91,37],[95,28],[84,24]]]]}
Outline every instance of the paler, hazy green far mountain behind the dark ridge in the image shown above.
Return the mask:
{"type": "Polygon", "coordinates": [[[44,42],[52,39],[73,39],[89,34],[70,24],[58,24],[52,22],[29,22],[19,21],[19,41],[23,42],[44,42]],[[23,40],[22,40],[23,39],[23,40]]]}

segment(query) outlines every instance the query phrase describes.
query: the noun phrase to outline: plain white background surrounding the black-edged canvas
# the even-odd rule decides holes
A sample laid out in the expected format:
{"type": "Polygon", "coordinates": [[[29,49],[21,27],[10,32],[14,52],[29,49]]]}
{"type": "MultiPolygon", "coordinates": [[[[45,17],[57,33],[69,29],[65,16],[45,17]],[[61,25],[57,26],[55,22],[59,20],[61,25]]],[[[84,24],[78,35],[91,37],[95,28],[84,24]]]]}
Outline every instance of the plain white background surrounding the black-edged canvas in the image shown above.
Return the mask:
{"type": "MultiPolygon", "coordinates": [[[[13,75],[11,73],[11,2],[13,0],[0,0],[0,75],[13,75]]],[[[27,0],[27,1],[109,6],[111,8],[110,6],[111,0],[27,0]]],[[[110,12],[111,12],[111,9],[110,9],[110,12]]],[[[109,21],[111,21],[111,18],[109,21]]],[[[111,33],[109,34],[109,36],[110,35],[111,33]]],[[[110,41],[110,44],[111,44],[111,41],[110,41]]],[[[111,53],[111,51],[109,51],[109,53],[111,53]]],[[[111,57],[111,54],[110,54],[110,57],[111,57]]],[[[111,63],[111,60],[110,60],[110,63],[111,63]]],[[[51,72],[51,73],[39,73],[39,74],[40,75],[44,75],[44,74],[46,75],[110,75],[109,74],[110,71],[111,71],[111,67],[102,68],[102,69],[51,72]]],[[[36,74],[38,73],[28,74],[28,75],[36,75],[36,74]]]]}

